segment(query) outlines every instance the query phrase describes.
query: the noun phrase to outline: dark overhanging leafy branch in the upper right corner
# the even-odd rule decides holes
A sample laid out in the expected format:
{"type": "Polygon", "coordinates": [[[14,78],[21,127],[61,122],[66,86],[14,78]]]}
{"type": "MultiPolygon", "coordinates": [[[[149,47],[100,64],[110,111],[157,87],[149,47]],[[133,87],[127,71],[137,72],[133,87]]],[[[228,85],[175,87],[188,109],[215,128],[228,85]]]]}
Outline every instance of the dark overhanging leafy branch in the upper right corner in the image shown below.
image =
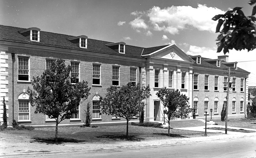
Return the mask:
{"type": "MultiPolygon", "coordinates": [[[[254,5],[256,0],[250,0],[249,4],[254,5]]],[[[226,54],[228,50],[244,50],[251,51],[256,48],[256,31],[253,16],[256,13],[256,6],[252,9],[252,16],[246,17],[241,11],[242,7],[235,7],[233,10],[227,11],[225,14],[215,15],[212,20],[218,20],[216,33],[220,32],[217,37],[217,52],[222,51],[226,54]],[[220,27],[223,29],[220,31],[220,27]]]]}

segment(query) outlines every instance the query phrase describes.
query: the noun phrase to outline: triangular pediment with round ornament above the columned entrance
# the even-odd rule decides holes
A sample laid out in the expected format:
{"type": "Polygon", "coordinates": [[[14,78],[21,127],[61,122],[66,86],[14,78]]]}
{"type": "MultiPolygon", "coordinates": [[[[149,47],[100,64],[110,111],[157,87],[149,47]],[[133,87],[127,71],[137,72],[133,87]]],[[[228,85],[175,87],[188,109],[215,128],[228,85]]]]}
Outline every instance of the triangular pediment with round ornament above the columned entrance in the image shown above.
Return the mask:
{"type": "Polygon", "coordinates": [[[162,58],[162,59],[195,62],[175,44],[168,45],[162,49],[154,51],[148,55],[145,55],[145,57],[155,57],[155,58],[162,58]]]}

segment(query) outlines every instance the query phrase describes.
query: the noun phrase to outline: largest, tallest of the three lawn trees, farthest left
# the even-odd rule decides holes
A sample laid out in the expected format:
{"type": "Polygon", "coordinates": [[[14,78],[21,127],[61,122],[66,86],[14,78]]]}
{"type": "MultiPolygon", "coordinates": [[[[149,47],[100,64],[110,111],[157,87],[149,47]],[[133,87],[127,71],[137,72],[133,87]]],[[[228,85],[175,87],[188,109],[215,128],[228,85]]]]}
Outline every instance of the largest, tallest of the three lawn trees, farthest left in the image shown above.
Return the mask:
{"type": "Polygon", "coordinates": [[[45,70],[41,77],[33,77],[28,87],[29,102],[36,106],[35,114],[41,113],[56,120],[55,141],[58,142],[58,124],[64,119],[70,119],[76,113],[76,107],[90,94],[87,82],[75,81],[74,75],[69,75],[72,67],[65,65],[65,60],[57,59],[50,70],[45,70]]]}

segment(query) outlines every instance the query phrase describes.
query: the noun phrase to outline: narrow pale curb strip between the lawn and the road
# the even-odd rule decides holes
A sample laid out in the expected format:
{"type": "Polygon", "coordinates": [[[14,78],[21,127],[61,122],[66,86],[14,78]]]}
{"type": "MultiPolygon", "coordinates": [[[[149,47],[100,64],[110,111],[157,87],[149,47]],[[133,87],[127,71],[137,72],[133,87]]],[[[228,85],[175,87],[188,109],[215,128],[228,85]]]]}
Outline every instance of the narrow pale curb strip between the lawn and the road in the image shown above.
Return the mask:
{"type": "MultiPolygon", "coordinates": [[[[237,136],[237,135],[236,135],[237,136]]],[[[255,137],[253,136],[238,136],[238,137],[231,137],[231,138],[214,138],[212,140],[232,140],[237,138],[245,138],[245,137],[255,137]]],[[[200,138],[200,137],[195,137],[200,138]]],[[[159,145],[144,145],[144,146],[126,146],[126,147],[115,147],[115,148],[104,148],[104,149],[88,149],[88,150],[66,150],[66,151],[50,151],[50,152],[35,152],[35,153],[17,153],[17,154],[0,154],[0,157],[11,157],[11,156],[28,156],[28,155],[47,155],[47,154],[68,154],[68,153],[81,153],[81,152],[94,152],[94,151],[106,151],[106,150],[113,150],[113,149],[130,149],[130,148],[146,148],[146,147],[154,147],[154,146],[173,146],[173,145],[182,145],[182,144],[192,144],[196,142],[203,142],[205,140],[193,141],[193,142],[175,142],[169,144],[159,144],[159,145]]]]}

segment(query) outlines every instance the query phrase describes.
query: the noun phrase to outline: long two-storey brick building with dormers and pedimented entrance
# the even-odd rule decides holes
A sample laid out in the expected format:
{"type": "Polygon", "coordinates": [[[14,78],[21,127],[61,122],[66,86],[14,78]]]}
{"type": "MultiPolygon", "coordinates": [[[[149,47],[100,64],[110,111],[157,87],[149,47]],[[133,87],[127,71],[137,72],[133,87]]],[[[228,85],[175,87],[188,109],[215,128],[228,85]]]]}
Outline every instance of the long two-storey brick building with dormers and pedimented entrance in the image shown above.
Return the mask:
{"type": "MultiPolygon", "coordinates": [[[[123,118],[99,115],[97,101],[100,96],[105,96],[109,86],[119,87],[128,82],[140,82],[141,86],[149,84],[151,87],[152,96],[146,100],[145,121],[163,121],[163,105],[156,96],[156,92],[162,87],[179,89],[182,94],[186,94],[189,105],[197,108],[197,117],[204,117],[206,105],[208,109],[216,108],[214,116],[220,117],[221,105],[227,94],[223,89],[226,79],[223,73],[227,72],[227,67],[237,64],[228,63],[223,57],[212,60],[188,56],[174,44],[142,48],[126,45],[124,42],[90,39],[85,35],[74,37],[44,32],[39,28],[3,25],[0,25],[0,35],[1,121],[2,101],[5,97],[8,122],[12,122],[14,118],[24,125],[55,124],[46,115],[34,114],[35,107],[29,105],[27,93],[32,76],[41,75],[55,59],[65,59],[66,64],[72,66],[71,73],[76,75],[77,82],[87,81],[91,87],[91,95],[80,104],[77,113],[60,124],[83,123],[84,109],[88,102],[92,107],[92,123],[125,121],[123,118]]],[[[226,58],[228,57],[225,56],[226,58]]],[[[249,72],[235,68],[236,74],[232,76],[235,89],[229,100],[236,100],[239,104],[235,102],[235,112],[229,108],[229,117],[242,115],[244,111],[241,109],[244,110],[244,104],[248,100],[246,79],[249,72]]],[[[133,121],[138,121],[138,118],[133,121]]]]}

